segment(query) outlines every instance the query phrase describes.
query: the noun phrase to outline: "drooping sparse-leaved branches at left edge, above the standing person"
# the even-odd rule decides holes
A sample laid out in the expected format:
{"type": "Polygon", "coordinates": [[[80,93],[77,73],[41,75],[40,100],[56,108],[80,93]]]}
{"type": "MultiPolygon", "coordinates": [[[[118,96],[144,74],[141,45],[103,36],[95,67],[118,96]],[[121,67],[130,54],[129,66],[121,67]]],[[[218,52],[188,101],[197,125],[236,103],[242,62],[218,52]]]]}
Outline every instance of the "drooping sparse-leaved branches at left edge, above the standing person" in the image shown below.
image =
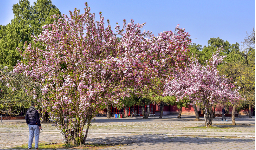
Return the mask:
{"type": "Polygon", "coordinates": [[[0,113],[19,115],[22,108],[41,101],[40,84],[30,77],[0,66],[0,113]]]}

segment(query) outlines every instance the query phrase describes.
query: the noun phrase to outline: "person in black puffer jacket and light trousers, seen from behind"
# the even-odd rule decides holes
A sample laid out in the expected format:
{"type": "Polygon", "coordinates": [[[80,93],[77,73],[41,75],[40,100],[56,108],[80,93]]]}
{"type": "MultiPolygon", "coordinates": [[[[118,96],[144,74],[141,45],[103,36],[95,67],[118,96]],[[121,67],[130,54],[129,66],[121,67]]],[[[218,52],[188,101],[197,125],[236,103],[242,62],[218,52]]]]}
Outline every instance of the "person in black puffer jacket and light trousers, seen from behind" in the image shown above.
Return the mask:
{"type": "Polygon", "coordinates": [[[32,148],[32,143],[35,135],[35,149],[38,149],[38,141],[39,141],[39,134],[40,129],[42,129],[39,119],[39,113],[31,104],[30,108],[27,110],[25,120],[28,124],[29,128],[29,139],[28,139],[28,149],[32,148]]]}

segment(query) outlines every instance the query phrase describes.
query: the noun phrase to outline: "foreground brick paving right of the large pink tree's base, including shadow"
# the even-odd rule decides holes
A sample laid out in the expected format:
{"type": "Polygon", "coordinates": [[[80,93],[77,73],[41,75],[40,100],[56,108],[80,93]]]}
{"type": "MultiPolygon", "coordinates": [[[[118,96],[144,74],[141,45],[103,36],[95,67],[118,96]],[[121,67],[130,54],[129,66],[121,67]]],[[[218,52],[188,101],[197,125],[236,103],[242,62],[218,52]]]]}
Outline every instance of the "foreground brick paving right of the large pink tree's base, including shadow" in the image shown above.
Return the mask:
{"type": "Polygon", "coordinates": [[[255,138],[188,137],[165,135],[90,135],[88,143],[127,144],[118,150],[252,150],[255,138]]]}

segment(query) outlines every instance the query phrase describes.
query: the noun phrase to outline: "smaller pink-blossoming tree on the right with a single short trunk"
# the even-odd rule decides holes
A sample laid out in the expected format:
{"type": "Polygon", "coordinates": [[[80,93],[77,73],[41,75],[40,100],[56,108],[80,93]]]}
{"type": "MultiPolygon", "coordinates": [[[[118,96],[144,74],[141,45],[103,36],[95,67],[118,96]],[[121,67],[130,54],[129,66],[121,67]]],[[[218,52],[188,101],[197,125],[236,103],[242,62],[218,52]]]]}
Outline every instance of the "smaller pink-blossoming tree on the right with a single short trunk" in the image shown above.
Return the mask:
{"type": "Polygon", "coordinates": [[[205,62],[206,66],[200,65],[197,59],[191,59],[191,63],[165,85],[167,91],[164,95],[175,95],[177,100],[187,97],[191,103],[204,106],[206,127],[212,125],[214,103],[234,104],[243,99],[238,92],[240,87],[234,89],[235,85],[225,75],[219,75],[217,65],[226,57],[219,53],[220,50],[213,53],[209,62],[205,62]]]}

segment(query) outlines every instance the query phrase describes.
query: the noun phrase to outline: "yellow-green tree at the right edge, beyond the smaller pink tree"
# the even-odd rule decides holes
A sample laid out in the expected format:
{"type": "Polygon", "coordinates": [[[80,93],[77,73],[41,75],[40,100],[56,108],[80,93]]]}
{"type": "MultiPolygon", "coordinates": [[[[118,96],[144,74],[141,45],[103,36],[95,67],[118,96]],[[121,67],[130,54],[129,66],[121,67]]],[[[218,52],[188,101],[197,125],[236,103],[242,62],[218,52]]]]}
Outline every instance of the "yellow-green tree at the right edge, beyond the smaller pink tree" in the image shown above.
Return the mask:
{"type": "Polygon", "coordinates": [[[226,63],[219,67],[219,71],[241,87],[240,93],[246,100],[237,103],[237,110],[249,108],[251,117],[251,107],[255,107],[255,30],[247,34],[240,50],[238,43],[231,48],[226,63]]]}

